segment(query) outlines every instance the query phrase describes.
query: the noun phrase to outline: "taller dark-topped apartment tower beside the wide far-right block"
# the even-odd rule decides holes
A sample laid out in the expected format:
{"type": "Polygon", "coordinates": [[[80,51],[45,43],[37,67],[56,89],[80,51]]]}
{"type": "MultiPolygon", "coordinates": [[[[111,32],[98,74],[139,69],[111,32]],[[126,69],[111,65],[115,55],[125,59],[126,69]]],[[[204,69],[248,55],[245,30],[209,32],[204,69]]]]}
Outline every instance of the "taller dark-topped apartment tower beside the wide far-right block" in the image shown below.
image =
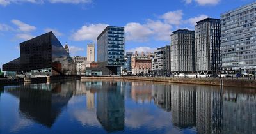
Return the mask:
{"type": "Polygon", "coordinates": [[[220,19],[207,18],[196,23],[196,71],[217,73],[221,70],[220,19]]]}

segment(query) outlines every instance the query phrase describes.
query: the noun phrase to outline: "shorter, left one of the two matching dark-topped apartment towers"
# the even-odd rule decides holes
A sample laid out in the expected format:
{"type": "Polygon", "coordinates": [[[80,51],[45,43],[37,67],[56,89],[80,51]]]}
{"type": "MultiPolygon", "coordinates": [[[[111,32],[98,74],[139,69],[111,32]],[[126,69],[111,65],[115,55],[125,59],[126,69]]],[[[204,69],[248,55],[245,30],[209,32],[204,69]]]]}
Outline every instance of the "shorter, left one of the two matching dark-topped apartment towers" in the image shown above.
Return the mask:
{"type": "Polygon", "coordinates": [[[195,71],[195,31],[179,29],[171,35],[171,72],[195,71]]]}

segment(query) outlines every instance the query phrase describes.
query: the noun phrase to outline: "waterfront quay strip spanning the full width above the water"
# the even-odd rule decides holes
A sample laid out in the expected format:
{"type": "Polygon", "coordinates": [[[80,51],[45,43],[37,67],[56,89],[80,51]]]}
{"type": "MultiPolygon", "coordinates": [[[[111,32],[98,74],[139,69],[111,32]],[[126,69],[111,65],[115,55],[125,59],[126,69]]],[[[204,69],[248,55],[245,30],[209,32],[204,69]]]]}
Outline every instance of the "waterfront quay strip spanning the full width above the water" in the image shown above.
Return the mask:
{"type": "Polygon", "coordinates": [[[24,78],[23,79],[2,79],[0,84],[17,84],[22,82],[45,83],[67,80],[132,80],[132,81],[150,81],[150,82],[169,82],[178,84],[198,84],[209,86],[228,86],[228,87],[248,87],[256,89],[256,80],[253,77],[127,77],[127,76],[101,76],[101,77],[86,77],[86,76],[70,76],[70,77],[40,77],[40,78],[24,78]]]}

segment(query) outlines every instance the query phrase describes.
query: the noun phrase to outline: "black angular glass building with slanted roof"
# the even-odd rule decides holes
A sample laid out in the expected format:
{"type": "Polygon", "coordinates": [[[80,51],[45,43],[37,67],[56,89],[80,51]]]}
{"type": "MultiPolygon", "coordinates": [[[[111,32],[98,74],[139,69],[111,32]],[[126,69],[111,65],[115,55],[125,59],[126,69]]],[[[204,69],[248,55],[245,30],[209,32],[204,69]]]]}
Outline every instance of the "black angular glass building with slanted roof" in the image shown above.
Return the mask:
{"type": "Polygon", "coordinates": [[[49,32],[20,43],[20,58],[4,64],[3,71],[29,75],[73,75],[76,66],[60,41],[49,32]]]}

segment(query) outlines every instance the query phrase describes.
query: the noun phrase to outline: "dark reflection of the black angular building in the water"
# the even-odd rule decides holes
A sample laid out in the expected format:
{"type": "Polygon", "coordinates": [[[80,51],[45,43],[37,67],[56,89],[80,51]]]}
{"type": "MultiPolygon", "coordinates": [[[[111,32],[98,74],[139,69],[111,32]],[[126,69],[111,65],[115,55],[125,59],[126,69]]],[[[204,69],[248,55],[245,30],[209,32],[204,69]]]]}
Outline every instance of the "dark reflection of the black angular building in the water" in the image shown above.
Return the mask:
{"type": "Polygon", "coordinates": [[[42,87],[40,89],[36,89],[35,84],[4,87],[4,89],[19,98],[20,115],[51,128],[72,97],[74,87],[68,83],[40,84],[40,86],[42,87]]]}

